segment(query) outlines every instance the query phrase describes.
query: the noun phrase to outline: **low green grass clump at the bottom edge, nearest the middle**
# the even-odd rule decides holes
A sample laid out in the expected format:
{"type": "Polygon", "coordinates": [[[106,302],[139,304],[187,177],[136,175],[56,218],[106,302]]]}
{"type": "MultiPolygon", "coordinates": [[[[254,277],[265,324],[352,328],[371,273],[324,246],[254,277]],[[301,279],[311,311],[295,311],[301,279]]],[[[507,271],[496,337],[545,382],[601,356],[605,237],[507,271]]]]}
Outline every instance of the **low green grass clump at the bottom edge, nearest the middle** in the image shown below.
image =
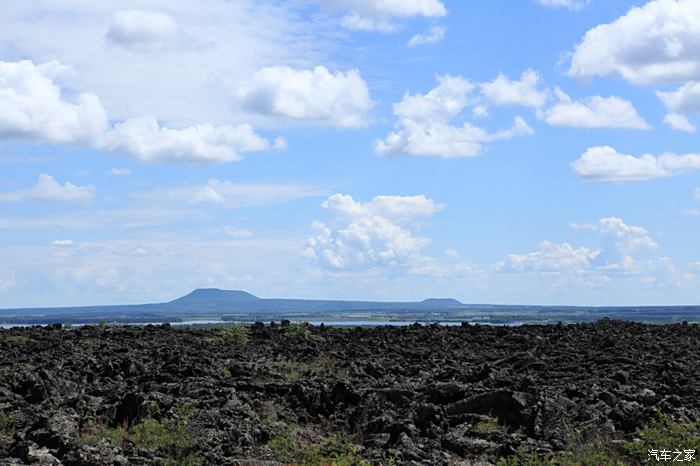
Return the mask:
{"type": "Polygon", "coordinates": [[[326,437],[319,443],[301,445],[291,434],[273,437],[267,444],[272,456],[280,462],[300,466],[370,466],[358,454],[358,447],[341,436],[326,437]]]}

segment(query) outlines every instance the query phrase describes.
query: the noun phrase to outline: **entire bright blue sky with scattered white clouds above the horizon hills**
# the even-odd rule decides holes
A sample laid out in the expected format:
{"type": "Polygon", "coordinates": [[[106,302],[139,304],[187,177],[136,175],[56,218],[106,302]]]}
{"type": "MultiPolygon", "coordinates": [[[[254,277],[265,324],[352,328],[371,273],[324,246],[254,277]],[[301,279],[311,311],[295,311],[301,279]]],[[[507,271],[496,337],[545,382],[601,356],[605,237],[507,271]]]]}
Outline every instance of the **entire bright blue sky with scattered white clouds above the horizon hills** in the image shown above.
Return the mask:
{"type": "Polygon", "coordinates": [[[693,304],[700,3],[0,6],[0,307],[693,304]]]}

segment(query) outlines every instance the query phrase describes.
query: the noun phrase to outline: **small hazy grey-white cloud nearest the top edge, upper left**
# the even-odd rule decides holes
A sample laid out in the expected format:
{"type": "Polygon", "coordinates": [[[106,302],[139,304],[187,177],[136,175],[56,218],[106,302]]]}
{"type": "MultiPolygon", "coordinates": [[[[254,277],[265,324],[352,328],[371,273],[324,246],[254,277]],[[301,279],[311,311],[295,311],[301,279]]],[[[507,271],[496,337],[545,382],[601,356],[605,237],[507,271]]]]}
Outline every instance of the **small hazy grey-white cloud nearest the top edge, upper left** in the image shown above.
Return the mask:
{"type": "Polygon", "coordinates": [[[107,31],[110,43],[141,52],[186,49],[196,45],[172,15],[151,10],[120,10],[107,31]]]}

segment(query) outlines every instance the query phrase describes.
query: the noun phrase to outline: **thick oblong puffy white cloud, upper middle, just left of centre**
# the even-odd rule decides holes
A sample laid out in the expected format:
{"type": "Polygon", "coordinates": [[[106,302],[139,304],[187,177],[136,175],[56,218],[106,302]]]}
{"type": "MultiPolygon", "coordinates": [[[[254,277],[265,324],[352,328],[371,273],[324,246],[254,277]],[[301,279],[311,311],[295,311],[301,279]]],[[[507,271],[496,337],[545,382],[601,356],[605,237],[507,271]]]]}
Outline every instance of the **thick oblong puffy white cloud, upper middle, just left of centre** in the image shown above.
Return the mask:
{"type": "Polygon", "coordinates": [[[373,105],[359,71],[325,66],[263,68],[240,84],[236,99],[255,113],[346,128],[365,126],[373,105]]]}

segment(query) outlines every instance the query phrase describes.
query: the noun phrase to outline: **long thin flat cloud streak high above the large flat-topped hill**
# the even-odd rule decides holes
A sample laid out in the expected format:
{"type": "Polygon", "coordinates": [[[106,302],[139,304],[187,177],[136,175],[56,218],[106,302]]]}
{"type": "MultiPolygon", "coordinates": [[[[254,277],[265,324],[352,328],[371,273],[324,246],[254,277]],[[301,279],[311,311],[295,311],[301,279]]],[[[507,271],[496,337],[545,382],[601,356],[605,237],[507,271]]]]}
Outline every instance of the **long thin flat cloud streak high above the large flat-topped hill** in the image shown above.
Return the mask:
{"type": "Polygon", "coordinates": [[[325,194],[316,186],[301,184],[234,183],[211,179],[206,184],[159,188],[132,197],[154,204],[211,205],[222,208],[252,207],[325,194]]]}

